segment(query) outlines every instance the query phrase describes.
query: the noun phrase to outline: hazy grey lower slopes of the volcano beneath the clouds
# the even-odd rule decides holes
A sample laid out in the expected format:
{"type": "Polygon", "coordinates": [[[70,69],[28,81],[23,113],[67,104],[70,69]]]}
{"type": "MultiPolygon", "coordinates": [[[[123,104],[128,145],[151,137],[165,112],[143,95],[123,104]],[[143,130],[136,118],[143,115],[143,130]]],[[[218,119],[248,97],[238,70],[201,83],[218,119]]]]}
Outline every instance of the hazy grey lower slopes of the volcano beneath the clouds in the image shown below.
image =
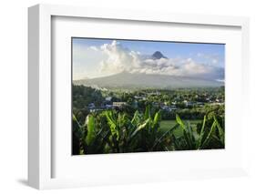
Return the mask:
{"type": "Polygon", "coordinates": [[[73,84],[106,88],[187,88],[223,86],[221,82],[203,78],[140,73],[131,74],[128,72],[122,72],[108,77],[75,80],[73,84]]]}

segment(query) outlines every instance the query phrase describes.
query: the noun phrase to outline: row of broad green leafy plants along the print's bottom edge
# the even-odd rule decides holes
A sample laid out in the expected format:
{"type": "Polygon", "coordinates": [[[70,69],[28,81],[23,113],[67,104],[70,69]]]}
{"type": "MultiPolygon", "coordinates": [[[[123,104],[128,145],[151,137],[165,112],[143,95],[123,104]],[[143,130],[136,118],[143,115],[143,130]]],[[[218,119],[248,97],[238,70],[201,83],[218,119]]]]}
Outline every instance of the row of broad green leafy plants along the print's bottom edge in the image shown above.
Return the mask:
{"type": "Polygon", "coordinates": [[[136,111],[132,119],[112,110],[89,114],[82,125],[73,116],[73,154],[224,148],[224,129],[215,116],[205,116],[200,130],[184,123],[179,115],[176,122],[168,130],[160,130],[160,112],[151,116],[149,107],[143,115],[136,111]],[[182,131],[179,137],[174,134],[177,129],[182,131]]]}

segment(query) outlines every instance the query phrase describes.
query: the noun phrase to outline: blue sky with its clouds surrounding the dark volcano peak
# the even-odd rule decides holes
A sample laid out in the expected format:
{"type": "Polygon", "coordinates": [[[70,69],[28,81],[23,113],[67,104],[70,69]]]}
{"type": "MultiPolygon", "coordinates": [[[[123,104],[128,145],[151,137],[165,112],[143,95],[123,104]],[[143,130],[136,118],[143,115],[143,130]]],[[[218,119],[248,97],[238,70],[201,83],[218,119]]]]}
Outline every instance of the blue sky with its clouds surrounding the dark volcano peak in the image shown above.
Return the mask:
{"type": "MultiPolygon", "coordinates": [[[[199,76],[204,72],[210,74],[210,69],[213,69],[212,71],[214,68],[215,70],[224,69],[225,45],[222,44],[88,38],[73,38],[72,40],[74,79],[104,77],[124,70],[137,73],[151,72],[152,74],[168,72],[167,74],[170,75],[176,73],[178,76],[188,74],[196,77],[196,72],[192,69],[194,67],[198,68],[199,76]],[[155,51],[160,51],[169,60],[150,61],[151,59],[147,59],[155,51]],[[189,73],[189,64],[193,74],[189,73]],[[155,66],[160,67],[156,69],[155,66]],[[163,66],[169,66],[169,68],[160,70],[163,66]],[[171,70],[171,66],[179,67],[180,70],[175,72],[171,70]],[[150,68],[151,71],[149,71],[150,68]]],[[[215,71],[213,73],[216,74],[215,71]]]]}

